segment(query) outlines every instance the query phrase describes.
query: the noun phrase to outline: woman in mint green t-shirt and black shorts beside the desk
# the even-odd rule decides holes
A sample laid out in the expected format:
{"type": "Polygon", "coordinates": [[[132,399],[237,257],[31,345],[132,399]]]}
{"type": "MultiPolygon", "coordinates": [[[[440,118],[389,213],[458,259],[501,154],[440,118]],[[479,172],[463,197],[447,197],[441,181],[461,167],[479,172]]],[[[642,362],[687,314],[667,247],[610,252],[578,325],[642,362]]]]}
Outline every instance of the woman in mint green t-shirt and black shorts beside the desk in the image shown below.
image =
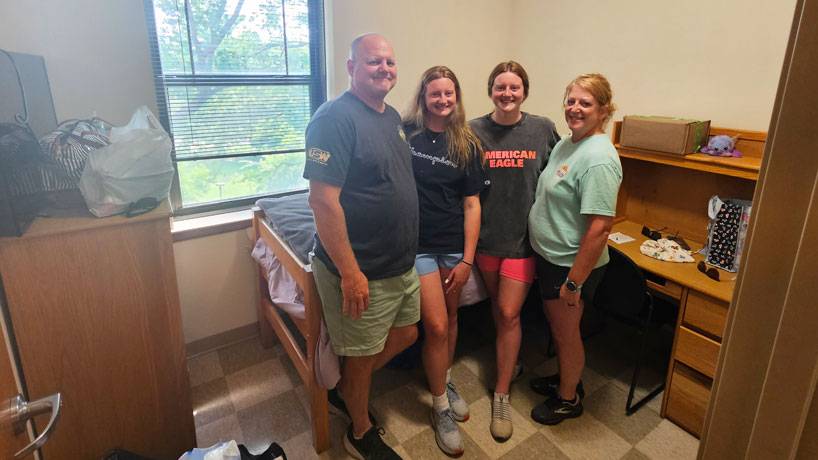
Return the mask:
{"type": "Polygon", "coordinates": [[[566,87],[565,121],[571,136],[551,152],[528,217],[560,369],[531,381],[535,392],[548,396],[532,409],[531,418],[546,425],[582,415],[585,350],[579,322],[583,299],[592,298],[608,263],[608,234],[622,182],[619,156],[604,131],[616,110],[612,99],[611,86],[600,74],[581,75],[566,87]]]}

